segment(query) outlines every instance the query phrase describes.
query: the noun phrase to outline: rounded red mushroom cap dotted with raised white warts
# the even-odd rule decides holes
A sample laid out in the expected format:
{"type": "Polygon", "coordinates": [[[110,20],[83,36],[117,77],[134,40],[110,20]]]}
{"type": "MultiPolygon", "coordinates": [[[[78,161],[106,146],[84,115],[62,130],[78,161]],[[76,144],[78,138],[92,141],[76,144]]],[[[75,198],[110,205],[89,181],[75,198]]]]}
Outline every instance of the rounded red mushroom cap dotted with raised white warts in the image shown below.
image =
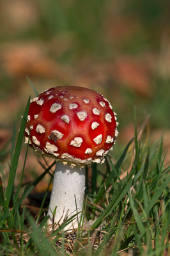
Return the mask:
{"type": "Polygon", "coordinates": [[[100,93],[58,86],[31,100],[26,143],[66,163],[103,163],[118,135],[116,114],[100,93]]]}

